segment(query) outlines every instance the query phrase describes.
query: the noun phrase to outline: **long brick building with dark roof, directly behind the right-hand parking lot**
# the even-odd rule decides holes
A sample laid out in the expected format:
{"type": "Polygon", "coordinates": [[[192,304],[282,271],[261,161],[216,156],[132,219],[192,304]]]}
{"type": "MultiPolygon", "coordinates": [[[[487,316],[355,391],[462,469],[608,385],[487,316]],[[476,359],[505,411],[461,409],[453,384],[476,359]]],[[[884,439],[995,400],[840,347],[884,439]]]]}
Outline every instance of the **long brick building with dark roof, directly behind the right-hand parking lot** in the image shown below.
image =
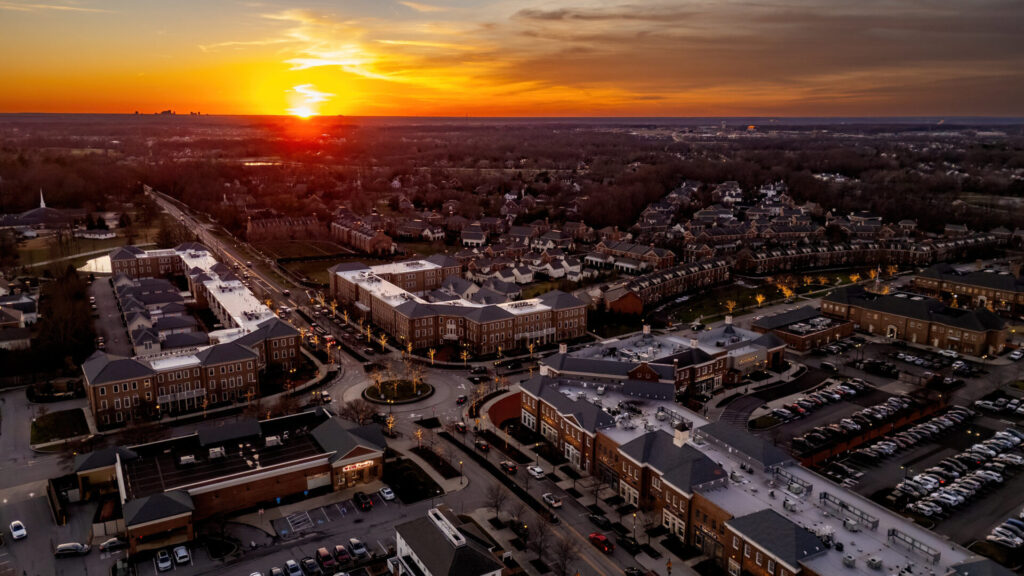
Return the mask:
{"type": "Polygon", "coordinates": [[[833,291],[821,299],[821,312],[871,334],[972,356],[999,354],[1009,336],[1006,322],[985,308],[954,308],[916,294],[876,294],[861,286],[833,291]]]}

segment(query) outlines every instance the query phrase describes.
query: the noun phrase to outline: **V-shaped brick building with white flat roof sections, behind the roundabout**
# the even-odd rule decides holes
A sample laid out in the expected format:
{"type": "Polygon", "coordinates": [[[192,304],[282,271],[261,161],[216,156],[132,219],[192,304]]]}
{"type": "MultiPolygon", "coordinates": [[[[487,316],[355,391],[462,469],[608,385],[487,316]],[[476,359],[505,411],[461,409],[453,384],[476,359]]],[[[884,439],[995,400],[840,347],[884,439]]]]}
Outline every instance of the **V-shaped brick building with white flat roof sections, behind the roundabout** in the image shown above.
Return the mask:
{"type": "Polygon", "coordinates": [[[461,297],[434,302],[423,297],[458,270],[454,259],[442,255],[373,268],[338,264],[331,269],[331,293],[390,334],[393,341],[402,346],[412,343],[414,348],[451,343],[482,355],[586,334],[586,305],[557,290],[494,304],[461,297]]]}

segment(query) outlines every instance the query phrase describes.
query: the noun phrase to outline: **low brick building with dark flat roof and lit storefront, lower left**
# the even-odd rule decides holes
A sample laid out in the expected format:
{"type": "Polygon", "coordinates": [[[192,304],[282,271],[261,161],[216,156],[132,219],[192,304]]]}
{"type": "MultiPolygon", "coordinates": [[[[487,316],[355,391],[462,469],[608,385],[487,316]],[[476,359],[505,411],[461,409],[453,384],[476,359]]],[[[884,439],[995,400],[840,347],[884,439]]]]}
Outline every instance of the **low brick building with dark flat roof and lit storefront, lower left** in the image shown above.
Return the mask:
{"type": "Polygon", "coordinates": [[[211,517],[377,481],[385,447],[379,427],[316,410],[83,454],[72,481],[80,499],[115,497],[120,515],[93,536],[124,537],[135,553],[191,540],[211,517]]]}

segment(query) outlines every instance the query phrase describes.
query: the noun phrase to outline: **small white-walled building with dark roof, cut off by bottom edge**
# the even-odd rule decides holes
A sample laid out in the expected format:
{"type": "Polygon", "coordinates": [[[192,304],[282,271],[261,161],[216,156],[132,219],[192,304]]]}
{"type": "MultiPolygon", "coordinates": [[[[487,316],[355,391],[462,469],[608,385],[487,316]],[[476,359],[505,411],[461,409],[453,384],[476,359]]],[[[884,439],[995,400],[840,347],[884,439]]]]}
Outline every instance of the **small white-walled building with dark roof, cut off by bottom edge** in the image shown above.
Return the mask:
{"type": "Polygon", "coordinates": [[[504,568],[489,538],[447,506],[395,526],[394,539],[393,576],[500,576],[504,568]]]}

